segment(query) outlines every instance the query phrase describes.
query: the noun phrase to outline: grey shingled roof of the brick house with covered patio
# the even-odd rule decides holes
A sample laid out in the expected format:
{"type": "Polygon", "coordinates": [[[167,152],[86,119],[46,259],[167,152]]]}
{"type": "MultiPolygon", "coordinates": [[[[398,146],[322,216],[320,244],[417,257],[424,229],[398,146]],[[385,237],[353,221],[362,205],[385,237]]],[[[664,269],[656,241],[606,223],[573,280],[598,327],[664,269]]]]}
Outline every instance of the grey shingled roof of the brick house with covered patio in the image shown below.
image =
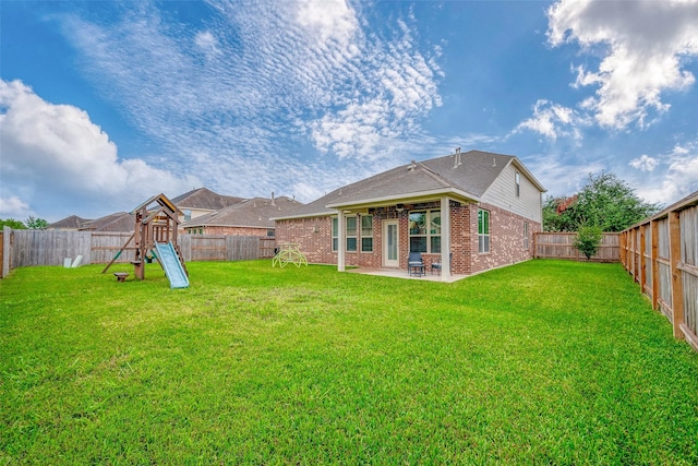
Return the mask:
{"type": "Polygon", "coordinates": [[[436,195],[479,201],[509,164],[514,164],[541,192],[545,191],[517,157],[469,151],[423,162],[412,160],[335,190],[288,215],[277,215],[276,219],[329,215],[347,206],[380,205],[436,195]]]}

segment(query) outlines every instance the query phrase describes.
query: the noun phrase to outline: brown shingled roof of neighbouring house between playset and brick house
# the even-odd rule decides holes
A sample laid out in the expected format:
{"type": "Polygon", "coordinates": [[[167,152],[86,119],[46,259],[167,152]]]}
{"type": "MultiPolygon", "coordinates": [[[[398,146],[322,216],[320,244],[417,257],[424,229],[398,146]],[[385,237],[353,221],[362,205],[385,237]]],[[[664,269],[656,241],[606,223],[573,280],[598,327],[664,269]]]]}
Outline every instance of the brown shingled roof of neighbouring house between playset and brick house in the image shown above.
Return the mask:
{"type": "Polygon", "coordinates": [[[181,228],[193,227],[248,227],[274,228],[270,218],[284,215],[302,205],[298,201],[281,196],[276,199],[252,198],[212,212],[180,225],[181,228]]]}

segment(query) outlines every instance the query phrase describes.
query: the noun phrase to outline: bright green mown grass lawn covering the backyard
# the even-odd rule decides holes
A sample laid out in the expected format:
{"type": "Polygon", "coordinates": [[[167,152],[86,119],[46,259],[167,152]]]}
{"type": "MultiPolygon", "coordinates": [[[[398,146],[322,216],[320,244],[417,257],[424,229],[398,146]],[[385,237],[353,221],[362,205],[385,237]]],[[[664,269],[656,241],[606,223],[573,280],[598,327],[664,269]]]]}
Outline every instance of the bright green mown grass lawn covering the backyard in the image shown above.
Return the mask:
{"type": "Polygon", "coordinates": [[[188,268],[0,280],[0,464],[698,464],[698,354],[619,265],[188,268]]]}

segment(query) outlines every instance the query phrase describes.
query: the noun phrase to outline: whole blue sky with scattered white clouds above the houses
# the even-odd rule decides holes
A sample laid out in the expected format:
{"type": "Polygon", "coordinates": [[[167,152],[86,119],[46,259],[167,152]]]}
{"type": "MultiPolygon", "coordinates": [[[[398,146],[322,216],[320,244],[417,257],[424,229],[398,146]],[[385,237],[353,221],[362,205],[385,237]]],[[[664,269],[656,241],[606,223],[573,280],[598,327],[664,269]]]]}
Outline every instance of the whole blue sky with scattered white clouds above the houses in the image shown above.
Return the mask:
{"type": "Polygon", "coordinates": [[[698,0],[0,0],[0,218],[301,202],[480,150],[698,190],[698,0]]]}

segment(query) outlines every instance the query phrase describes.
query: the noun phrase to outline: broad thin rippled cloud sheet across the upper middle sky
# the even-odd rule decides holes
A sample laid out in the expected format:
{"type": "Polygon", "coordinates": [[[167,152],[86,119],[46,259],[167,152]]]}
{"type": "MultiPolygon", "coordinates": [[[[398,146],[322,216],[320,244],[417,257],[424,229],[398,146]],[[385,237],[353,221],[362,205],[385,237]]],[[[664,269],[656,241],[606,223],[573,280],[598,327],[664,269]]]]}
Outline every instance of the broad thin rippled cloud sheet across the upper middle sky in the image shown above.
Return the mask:
{"type": "Polygon", "coordinates": [[[441,105],[440,50],[421,51],[400,20],[384,37],[344,0],[208,3],[215,17],[194,50],[148,3],[108,24],[62,17],[93,85],[171,156],[186,147],[256,165],[282,138],[305,138],[329,155],[377,160],[441,105]],[[197,59],[202,49],[215,60],[197,59]]]}

